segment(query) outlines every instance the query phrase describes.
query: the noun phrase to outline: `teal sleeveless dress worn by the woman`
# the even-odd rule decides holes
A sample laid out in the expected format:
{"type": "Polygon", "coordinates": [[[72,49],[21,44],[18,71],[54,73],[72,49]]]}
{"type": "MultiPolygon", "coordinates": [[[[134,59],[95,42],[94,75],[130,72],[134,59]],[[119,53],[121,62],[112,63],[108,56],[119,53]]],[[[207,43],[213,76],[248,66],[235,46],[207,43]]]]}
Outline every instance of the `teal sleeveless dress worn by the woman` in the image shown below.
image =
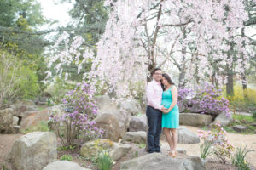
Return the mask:
{"type": "MultiPolygon", "coordinates": [[[[172,86],[173,87],[173,86],[172,86]]],[[[165,108],[169,108],[172,104],[172,91],[171,88],[167,89],[162,94],[162,103],[161,105],[165,105],[165,108]]],[[[162,128],[178,128],[179,127],[179,111],[178,106],[175,105],[172,108],[172,111],[169,113],[162,114],[162,128]]]]}

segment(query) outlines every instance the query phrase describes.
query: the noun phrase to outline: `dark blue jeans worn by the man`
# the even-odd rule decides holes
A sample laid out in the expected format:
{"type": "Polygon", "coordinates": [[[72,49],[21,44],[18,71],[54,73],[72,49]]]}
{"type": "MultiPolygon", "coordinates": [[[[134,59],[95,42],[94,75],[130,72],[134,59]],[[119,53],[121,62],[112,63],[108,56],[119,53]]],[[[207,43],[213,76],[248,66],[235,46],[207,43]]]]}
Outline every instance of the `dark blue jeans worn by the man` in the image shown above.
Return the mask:
{"type": "Polygon", "coordinates": [[[160,152],[162,112],[148,105],[146,115],[148,119],[148,152],[160,152]]]}

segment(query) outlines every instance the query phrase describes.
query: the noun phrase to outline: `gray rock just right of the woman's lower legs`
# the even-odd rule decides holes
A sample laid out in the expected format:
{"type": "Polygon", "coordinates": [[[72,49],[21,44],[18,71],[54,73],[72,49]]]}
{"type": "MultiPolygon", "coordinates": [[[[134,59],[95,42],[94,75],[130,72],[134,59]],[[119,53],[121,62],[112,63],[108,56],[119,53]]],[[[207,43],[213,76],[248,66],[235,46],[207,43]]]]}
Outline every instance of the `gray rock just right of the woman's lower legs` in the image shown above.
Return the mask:
{"type": "Polygon", "coordinates": [[[186,127],[179,127],[177,129],[178,143],[179,144],[198,144],[200,143],[199,137],[189,131],[186,127]]]}

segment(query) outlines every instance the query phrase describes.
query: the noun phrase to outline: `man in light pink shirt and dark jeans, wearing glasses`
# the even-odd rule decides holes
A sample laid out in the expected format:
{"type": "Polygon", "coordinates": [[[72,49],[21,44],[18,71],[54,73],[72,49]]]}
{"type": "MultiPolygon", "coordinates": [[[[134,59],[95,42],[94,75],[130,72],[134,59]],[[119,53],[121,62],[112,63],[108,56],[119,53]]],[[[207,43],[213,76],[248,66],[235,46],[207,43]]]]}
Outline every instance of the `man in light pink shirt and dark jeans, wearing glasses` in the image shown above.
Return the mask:
{"type": "Polygon", "coordinates": [[[148,119],[148,152],[160,152],[160,133],[163,109],[161,87],[162,71],[160,68],[154,69],[152,72],[153,81],[148,82],[146,89],[148,106],[147,106],[147,119],[148,119]]]}

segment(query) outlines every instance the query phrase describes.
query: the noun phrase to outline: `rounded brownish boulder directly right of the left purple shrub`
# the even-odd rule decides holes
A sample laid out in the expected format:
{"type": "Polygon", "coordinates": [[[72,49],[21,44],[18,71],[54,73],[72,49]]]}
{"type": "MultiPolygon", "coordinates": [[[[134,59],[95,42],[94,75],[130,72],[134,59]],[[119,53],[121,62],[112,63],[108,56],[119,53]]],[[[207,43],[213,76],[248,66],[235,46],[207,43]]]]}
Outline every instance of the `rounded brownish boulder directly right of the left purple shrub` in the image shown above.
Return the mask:
{"type": "Polygon", "coordinates": [[[103,138],[111,139],[114,142],[117,142],[119,140],[119,138],[121,137],[120,127],[116,116],[104,113],[97,116],[94,121],[96,122],[96,127],[100,127],[104,130],[103,138]]]}

